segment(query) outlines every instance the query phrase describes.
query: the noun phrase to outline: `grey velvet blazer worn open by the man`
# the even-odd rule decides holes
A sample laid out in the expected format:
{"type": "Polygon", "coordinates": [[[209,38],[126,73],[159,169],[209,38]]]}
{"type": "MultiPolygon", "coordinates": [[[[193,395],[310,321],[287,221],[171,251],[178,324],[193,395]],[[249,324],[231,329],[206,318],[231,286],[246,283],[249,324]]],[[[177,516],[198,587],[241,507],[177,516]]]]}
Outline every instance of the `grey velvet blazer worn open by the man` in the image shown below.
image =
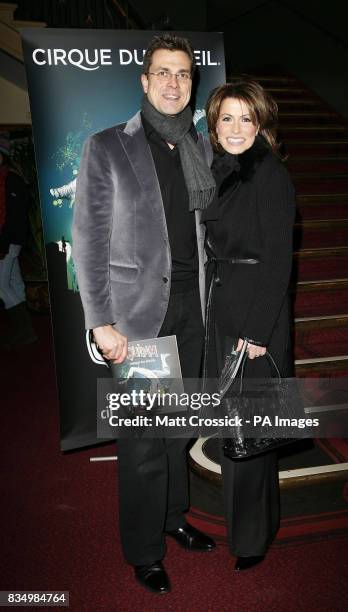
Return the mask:
{"type": "MultiPolygon", "coordinates": [[[[197,144],[210,165],[209,142],[200,134],[197,144]]],[[[204,314],[204,225],[195,215],[204,314]]],[[[140,112],[86,140],[72,236],[86,329],[112,324],[130,340],[156,337],[168,307],[171,253],[140,112]]]]}

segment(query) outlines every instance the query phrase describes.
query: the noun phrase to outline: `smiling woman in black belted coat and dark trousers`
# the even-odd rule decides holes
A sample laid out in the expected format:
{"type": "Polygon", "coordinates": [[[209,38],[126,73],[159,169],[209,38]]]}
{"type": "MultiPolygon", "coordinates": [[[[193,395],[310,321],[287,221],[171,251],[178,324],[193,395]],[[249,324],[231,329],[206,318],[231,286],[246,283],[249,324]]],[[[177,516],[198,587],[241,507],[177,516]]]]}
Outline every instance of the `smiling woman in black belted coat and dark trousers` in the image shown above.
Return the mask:
{"type": "MultiPolygon", "coordinates": [[[[272,376],[266,350],[282,376],[291,376],[287,290],[295,201],[277,154],[277,105],[258,83],[241,79],[213,92],[207,120],[217,184],[202,217],[212,283],[207,374],[219,376],[227,336],[238,339],[238,350],[248,342],[245,376],[272,376]]],[[[222,476],[235,569],[248,569],[263,560],[279,527],[276,453],[223,457],[222,476]]]]}

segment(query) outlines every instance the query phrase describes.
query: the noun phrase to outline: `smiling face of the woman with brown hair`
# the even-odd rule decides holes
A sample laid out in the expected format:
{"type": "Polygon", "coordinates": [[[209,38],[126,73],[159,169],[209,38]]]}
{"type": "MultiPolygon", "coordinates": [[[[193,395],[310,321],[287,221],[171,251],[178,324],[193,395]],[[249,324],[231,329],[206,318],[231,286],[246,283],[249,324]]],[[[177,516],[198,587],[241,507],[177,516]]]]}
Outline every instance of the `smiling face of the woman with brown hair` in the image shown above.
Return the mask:
{"type": "Polygon", "coordinates": [[[250,111],[238,98],[225,98],[220,106],[216,133],[220,145],[228,153],[238,155],[253,145],[259,127],[254,125],[250,111]]]}

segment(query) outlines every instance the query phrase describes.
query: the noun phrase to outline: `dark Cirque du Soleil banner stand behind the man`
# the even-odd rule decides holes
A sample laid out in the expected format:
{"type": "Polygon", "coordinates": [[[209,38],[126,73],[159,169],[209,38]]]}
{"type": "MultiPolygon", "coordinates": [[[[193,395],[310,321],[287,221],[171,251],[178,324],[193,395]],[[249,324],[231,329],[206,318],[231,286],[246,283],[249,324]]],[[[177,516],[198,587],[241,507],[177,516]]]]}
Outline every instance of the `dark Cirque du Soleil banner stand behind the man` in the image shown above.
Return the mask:
{"type": "MultiPolygon", "coordinates": [[[[96,427],[96,380],[108,376],[107,368],[85,330],[72,257],[71,223],[82,147],[92,134],[123,124],[139,111],[144,52],[161,33],[89,28],[21,31],[47,254],[62,451],[107,441],[98,437],[96,427]]],[[[198,70],[193,119],[197,132],[206,134],[207,98],[225,83],[223,36],[176,34],[189,38],[194,48],[198,70]]]]}

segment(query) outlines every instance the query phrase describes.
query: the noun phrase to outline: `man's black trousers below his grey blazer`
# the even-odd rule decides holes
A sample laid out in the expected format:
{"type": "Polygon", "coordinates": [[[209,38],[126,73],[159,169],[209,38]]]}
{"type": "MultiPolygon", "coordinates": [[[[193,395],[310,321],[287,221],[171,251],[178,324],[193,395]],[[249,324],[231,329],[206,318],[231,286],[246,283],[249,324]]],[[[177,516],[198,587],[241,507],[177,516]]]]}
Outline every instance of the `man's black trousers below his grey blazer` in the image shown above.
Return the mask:
{"type": "MultiPolygon", "coordinates": [[[[184,378],[198,378],[204,328],[198,288],[170,297],[159,336],[176,335],[184,378]]],[[[126,561],[143,565],[165,554],[164,532],[185,523],[187,439],[120,439],[120,535],[126,561]]]]}

